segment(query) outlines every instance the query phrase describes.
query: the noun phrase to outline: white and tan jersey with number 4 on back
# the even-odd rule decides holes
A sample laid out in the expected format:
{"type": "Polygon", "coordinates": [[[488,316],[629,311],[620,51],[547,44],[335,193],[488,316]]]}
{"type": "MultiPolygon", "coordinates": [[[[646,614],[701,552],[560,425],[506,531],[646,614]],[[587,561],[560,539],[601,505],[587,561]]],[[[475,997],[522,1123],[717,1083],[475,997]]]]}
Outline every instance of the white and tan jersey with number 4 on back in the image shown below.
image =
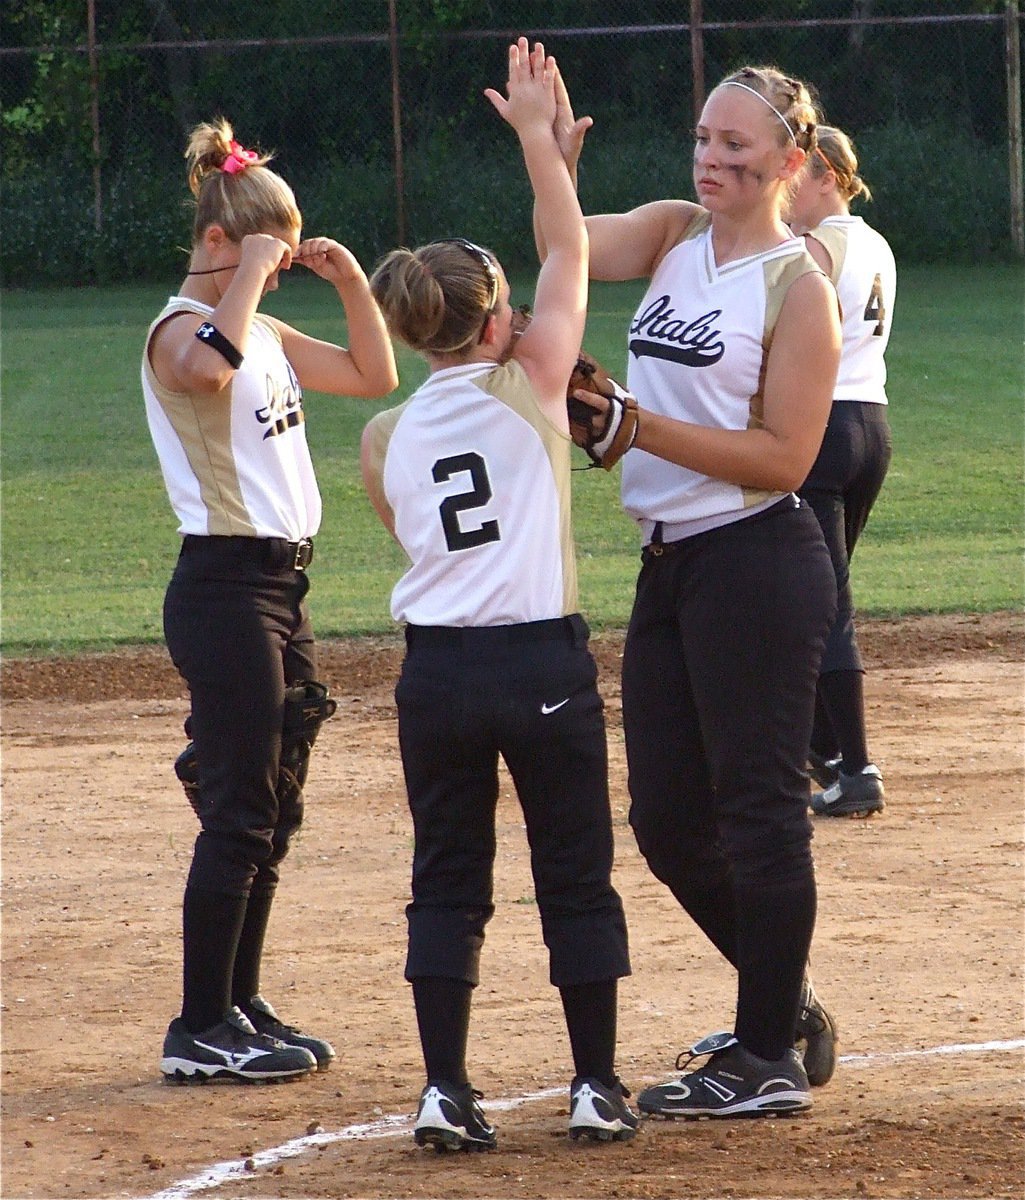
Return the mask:
{"type": "Polygon", "coordinates": [[[829,251],[829,277],[843,308],[844,348],[833,400],[885,404],[883,355],[897,299],[893,251],[861,217],[826,217],[809,236],[829,251]]]}

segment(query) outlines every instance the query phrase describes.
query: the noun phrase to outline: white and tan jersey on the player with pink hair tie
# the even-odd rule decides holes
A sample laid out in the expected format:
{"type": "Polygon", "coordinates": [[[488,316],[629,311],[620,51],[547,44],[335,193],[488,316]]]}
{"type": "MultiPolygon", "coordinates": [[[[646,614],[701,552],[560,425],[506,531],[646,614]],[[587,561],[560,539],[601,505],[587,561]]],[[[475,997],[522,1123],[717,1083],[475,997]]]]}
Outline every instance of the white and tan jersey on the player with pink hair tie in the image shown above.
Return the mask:
{"type": "Polygon", "coordinates": [[[178,312],[212,308],[172,296],[150,325],[143,395],[150,436],[181,534],[312,538],[320,493],[306,443],[302,389],[277,330],[257,314],[246,355],[218,395],[168,391],[149,358],[156,328],[178,312]]]}

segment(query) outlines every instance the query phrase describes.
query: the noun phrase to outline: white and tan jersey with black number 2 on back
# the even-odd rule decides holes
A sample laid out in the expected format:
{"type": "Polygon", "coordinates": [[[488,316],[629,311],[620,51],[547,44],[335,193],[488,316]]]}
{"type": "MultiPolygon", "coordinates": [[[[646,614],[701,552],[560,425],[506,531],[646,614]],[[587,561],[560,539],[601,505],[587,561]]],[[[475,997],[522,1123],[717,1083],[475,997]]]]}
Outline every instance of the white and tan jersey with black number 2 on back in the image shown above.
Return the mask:
{"type": "Polygon", "coordinates": [[[436,371],[367,427],[368,480],[410,566],[391,614],[415,625],[510,625],[576,612],[570,439],[522,366],[436,371]]]}

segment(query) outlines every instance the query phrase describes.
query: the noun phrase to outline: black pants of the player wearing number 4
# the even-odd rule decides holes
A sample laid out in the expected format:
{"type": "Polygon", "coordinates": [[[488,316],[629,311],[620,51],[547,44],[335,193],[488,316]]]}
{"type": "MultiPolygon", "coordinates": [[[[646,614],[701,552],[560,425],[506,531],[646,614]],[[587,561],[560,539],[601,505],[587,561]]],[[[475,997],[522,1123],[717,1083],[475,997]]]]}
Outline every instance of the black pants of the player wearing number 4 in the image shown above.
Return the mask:
{"type": "Polygon", "coordinates": [[[819,518],[837,576],[837,619],[822,654],[822,674],[863,670],[855,634],[851,557],[892,455],[886,404],[834,402],[819,456],[799,492],[819,518]]]}

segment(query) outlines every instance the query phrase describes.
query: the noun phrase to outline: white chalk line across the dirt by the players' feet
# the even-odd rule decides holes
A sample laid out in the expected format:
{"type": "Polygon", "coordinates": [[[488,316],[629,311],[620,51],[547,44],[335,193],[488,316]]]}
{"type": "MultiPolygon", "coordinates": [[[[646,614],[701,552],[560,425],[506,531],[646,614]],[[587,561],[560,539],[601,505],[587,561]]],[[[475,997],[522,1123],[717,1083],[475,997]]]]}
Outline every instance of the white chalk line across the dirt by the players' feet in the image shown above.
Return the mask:
{"type": "MultiPolygon", "coordinates": [[[[887,1054],[845,1054],[837,1060],[850,1067],[870,1067],[876,1063],[897,1062],[901,1058],[928,1058],[934,1055],[969,1055],[991,1054],[993,1051],[1025,1050],[1025,1038],[1015,1038],[1011,1042],[963,1042],[954,1045],[930,1046],[927,1050],[894,1050],[887,1054]]],[[[484,1108],[488,1112],[508,1112],[517,1109],[522,1104],[533,1104],[535,1100],[547,1100],[553,1096],[561,1096],[564,1087],[547,1087],[541,1092],[529,1092],[526,1096],[514,1096],[504,1100],[488,1100],[484,1108]]],[[[373,1138],[397,1138],[400,1134],[413,1132],[413,1116],[409,1114],[392,1114],[380,1117],[378,1121],[368,1121],[365,1124],[346,1126],[344,1129],[334,1129],[331,1133],[311,1133],[304,1138],[293,1138],[281,1146],[272,1146],[270,1150],[260,1150],[248,1159],[232,1159],[229,1163],[215,1163],[208,1166],[199,1175],[193,1175],[190,1180],[181,1180],[173,1183],[163,1192],[155,1192],[149,1200],[185,1200],[186,1196],[197,1192],[209,1192],[229,1180],[241,1180],[260,1168],[274,1166],[287,1158],[298,1158],[308,1150],[317,1146],[330,1146],[336,1141],[362,1141],[373,1138]],[[248,1164],[248,1166],[246,1165],[248,1164]]]]}

